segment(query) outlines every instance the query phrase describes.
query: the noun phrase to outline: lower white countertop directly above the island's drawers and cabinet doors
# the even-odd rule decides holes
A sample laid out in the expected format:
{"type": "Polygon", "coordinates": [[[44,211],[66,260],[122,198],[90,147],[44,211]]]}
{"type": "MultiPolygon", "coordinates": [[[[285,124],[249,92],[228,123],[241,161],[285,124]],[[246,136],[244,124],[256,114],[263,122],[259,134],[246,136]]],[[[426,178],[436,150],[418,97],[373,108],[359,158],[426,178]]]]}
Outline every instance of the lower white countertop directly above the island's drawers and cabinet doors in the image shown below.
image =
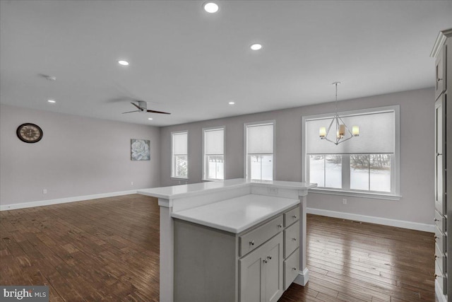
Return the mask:
{"type": "Polygon", "coordinates": [[[222,231],[240,233],[297,204],[298,199],[248,194],[172,212],[171,216],[222,231]]]}

